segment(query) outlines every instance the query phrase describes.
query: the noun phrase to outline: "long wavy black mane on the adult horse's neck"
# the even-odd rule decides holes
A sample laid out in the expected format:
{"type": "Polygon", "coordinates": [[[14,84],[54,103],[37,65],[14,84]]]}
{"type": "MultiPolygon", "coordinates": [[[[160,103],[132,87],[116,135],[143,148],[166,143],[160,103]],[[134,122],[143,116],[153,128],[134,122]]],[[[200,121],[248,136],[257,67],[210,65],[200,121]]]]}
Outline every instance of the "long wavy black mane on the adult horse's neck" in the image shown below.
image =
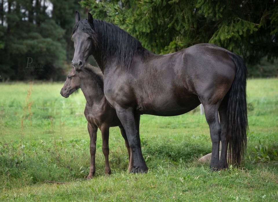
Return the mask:
{"type": "Polygon", "coordinates": [[[87,19],[83,19],[75,24],[72,34],[78,28],[92,37],[103,65],[116,59],[118,65],[129,69],[135,56],[145,60],[150,53],[140,41],[116,25],[94,19],[92,28],[87,19]]]}

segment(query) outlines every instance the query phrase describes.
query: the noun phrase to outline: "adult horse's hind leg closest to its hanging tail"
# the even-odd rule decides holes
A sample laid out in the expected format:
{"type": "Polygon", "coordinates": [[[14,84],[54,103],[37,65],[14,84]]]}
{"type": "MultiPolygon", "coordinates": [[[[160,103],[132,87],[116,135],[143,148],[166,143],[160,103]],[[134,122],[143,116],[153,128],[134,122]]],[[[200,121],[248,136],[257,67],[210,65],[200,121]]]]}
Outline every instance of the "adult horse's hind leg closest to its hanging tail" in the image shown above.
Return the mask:
{"type": "Polygon", "coordinates": [[[221,155],[220,155],[220,168],[224,169],[228,167],[227,164],[227,102],[222,101],[219,107],[220,125],[221,125],[221,155]]]}

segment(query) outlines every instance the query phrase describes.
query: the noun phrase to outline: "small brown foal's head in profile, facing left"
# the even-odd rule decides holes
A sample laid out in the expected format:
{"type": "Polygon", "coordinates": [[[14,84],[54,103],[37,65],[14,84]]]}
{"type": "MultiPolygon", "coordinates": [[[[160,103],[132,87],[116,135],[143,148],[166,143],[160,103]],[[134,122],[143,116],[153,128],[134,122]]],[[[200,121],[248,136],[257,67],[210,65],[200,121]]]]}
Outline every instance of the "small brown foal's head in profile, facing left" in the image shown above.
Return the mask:
{"type": "Polygon", "coordinates": [[[79,72],[76,72],[74,69],[69,72],[67,80],[61,89],[61,95],[65,98],[68,98],[74,91],[80,88],[81,78],[79,72]]]}

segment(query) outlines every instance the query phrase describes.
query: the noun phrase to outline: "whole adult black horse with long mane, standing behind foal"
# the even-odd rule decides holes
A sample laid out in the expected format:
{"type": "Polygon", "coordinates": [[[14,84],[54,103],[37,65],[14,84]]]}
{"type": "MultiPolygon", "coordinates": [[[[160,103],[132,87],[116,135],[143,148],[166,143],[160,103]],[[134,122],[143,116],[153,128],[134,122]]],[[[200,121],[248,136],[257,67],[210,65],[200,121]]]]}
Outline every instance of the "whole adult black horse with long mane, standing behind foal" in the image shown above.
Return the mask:
{"type": "Polygon", "coordinates": [[[212,44],[155,55],[124,30],[93,19],[90,13],[88,19],[80,20],[76,12],[75,21],[72,65],[82,71],[93,55],[103,72],[105,97],[127,133],[133,156],[131,172],[148,170],[141,151],[140,115],[177,116],[200,103],[212,140],[210,167],[227,167],[228,145],[231,163],[240,165],[248,129],[247,69],[241,57],[212,44]]]}

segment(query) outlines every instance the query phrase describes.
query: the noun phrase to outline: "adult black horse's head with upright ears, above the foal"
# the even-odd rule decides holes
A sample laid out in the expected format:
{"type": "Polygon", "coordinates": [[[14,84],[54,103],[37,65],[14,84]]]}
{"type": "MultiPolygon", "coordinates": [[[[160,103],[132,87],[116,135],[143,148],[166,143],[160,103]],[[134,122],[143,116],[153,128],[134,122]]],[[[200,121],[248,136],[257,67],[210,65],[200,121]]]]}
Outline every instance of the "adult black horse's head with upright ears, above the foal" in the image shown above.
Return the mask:
{"type": "Polygon", "coordinates": [[[75,26],[72,34],[72,40],[74,41],[74,57],[72,59],[72,65],[76,71],[82,71],[84,65],[92,54],[93,39],[92,32],[93,17],[89,13],[88,19],[83,19],[80,22],[79,12],[75,14],[75,26]]]}

